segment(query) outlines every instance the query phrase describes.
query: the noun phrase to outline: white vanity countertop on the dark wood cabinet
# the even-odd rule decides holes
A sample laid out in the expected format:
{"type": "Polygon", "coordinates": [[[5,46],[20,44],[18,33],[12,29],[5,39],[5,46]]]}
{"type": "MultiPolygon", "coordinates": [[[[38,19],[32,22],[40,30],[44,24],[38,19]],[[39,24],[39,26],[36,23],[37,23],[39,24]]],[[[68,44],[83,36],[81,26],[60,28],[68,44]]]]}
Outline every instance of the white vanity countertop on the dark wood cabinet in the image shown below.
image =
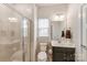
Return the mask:
{"type": "Polygon", "coordinates": [[[75,47],[73,43],[58,43],[57,41],[52,41],[52,46],[59,46],[59,47],[75,47]]]}

